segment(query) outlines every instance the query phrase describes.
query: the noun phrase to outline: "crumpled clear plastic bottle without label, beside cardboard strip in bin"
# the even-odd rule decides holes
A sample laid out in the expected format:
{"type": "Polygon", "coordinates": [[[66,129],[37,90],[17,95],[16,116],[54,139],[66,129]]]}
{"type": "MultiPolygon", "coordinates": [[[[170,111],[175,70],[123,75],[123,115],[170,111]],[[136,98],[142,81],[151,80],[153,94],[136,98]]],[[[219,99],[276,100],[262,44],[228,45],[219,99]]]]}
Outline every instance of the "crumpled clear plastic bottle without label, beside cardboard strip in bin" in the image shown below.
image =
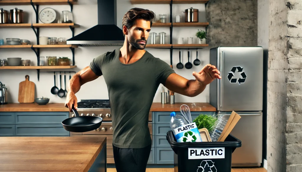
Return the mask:
{"type": "Polygon", "coordinates": [[[214,126],[214,129],[211,131],[210,133],[210,138],[212,140],[212,142],[217,142],[217,140],[219,139],[222,131],[223,131],[223,128],[224,126],[226,125],[227,121],[228,121],[228,115],[219,115],[217,117],[217,122],[214,126]]]}

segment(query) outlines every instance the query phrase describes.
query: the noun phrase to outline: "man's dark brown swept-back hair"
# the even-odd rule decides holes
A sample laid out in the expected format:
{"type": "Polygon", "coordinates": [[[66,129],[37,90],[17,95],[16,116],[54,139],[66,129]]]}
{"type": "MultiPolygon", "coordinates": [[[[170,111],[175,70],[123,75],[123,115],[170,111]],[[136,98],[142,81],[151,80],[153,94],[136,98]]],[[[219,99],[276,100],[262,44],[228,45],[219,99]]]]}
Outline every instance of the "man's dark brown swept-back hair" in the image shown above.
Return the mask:
{"type": "Polygon", "coordinates": [[[122,26],[126,26],[127,29],[130,29],[136,19],[143,19],[150,21],[150,27],[152,22],[155,20],[155,14],[153,11],[143,9],[143,8],[131,8],[123,17],[122,26]]]}

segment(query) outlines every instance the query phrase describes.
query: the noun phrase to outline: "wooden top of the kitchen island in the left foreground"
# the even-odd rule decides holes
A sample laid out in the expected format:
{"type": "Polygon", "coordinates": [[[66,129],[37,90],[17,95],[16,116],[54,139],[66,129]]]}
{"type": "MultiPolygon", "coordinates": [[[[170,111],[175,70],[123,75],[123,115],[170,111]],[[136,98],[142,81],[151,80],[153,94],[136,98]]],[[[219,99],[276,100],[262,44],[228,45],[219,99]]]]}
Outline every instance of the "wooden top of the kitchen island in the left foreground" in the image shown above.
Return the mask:
{"type": "Polygon", "coordinates": [[[0,171],[87,172],[106,141],[106,137],[1,137],[0,171]]]}

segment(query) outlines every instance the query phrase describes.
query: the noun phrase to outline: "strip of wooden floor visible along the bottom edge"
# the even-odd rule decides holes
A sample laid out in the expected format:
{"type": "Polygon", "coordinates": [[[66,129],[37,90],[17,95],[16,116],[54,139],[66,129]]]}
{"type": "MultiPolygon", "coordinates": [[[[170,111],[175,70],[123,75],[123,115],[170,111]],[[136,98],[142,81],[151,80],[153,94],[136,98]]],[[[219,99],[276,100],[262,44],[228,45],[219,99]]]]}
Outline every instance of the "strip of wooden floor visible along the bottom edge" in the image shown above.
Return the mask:
{"type": "MultiPolygon", "coordinates": [[[[107,172],[116,172],[115,168],[107,168],[107,172]]],[[[146,172],[174,172],[174,168],[147,168],[146,172]]],[[[267,172],[265,168],[232,168],[232,172],[267,172]]]]}

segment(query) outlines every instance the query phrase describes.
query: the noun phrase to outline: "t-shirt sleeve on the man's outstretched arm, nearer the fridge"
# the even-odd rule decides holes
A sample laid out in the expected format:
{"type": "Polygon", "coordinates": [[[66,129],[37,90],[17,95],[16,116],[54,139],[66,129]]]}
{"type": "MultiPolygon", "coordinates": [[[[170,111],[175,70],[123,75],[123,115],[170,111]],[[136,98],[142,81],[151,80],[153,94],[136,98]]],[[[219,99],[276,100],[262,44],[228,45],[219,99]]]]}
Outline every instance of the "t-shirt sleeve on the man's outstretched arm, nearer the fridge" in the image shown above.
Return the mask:
{"type": "Polygon", "coordinates": [[[166,62],[164,62],[158,58],[158,60],[156,62],[156,67],[155,67],[156,81],[161,84],[165,84],[167,78],[172,73],[175,73],[175,71],[172,69],[172,67],[169,64],[167,64],[166,62]]]}

